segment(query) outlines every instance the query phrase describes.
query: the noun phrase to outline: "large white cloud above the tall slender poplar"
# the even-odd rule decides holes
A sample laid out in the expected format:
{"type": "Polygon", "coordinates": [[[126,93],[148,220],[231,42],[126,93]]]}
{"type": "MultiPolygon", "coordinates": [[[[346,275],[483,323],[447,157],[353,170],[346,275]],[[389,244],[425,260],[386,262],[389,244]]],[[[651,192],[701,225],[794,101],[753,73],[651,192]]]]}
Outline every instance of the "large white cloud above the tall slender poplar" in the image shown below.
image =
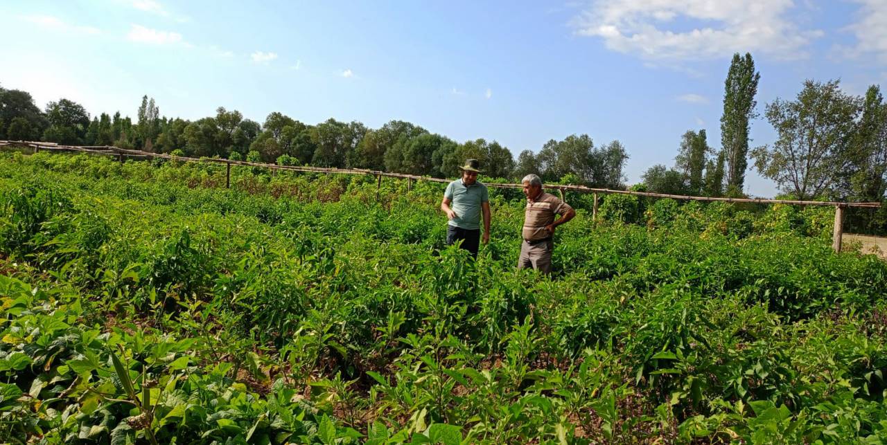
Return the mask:
{"type": "Polygon", "coordinates": [[[653,61],[729,58],[746,51],[801,59],[823,33],[787,19],[793,7],[792,0],[595,0],[572,25],[578,35],[599,37],[612,51],[653,61]],[[687,30],[687,23],[693,28],[687,30]]]}

